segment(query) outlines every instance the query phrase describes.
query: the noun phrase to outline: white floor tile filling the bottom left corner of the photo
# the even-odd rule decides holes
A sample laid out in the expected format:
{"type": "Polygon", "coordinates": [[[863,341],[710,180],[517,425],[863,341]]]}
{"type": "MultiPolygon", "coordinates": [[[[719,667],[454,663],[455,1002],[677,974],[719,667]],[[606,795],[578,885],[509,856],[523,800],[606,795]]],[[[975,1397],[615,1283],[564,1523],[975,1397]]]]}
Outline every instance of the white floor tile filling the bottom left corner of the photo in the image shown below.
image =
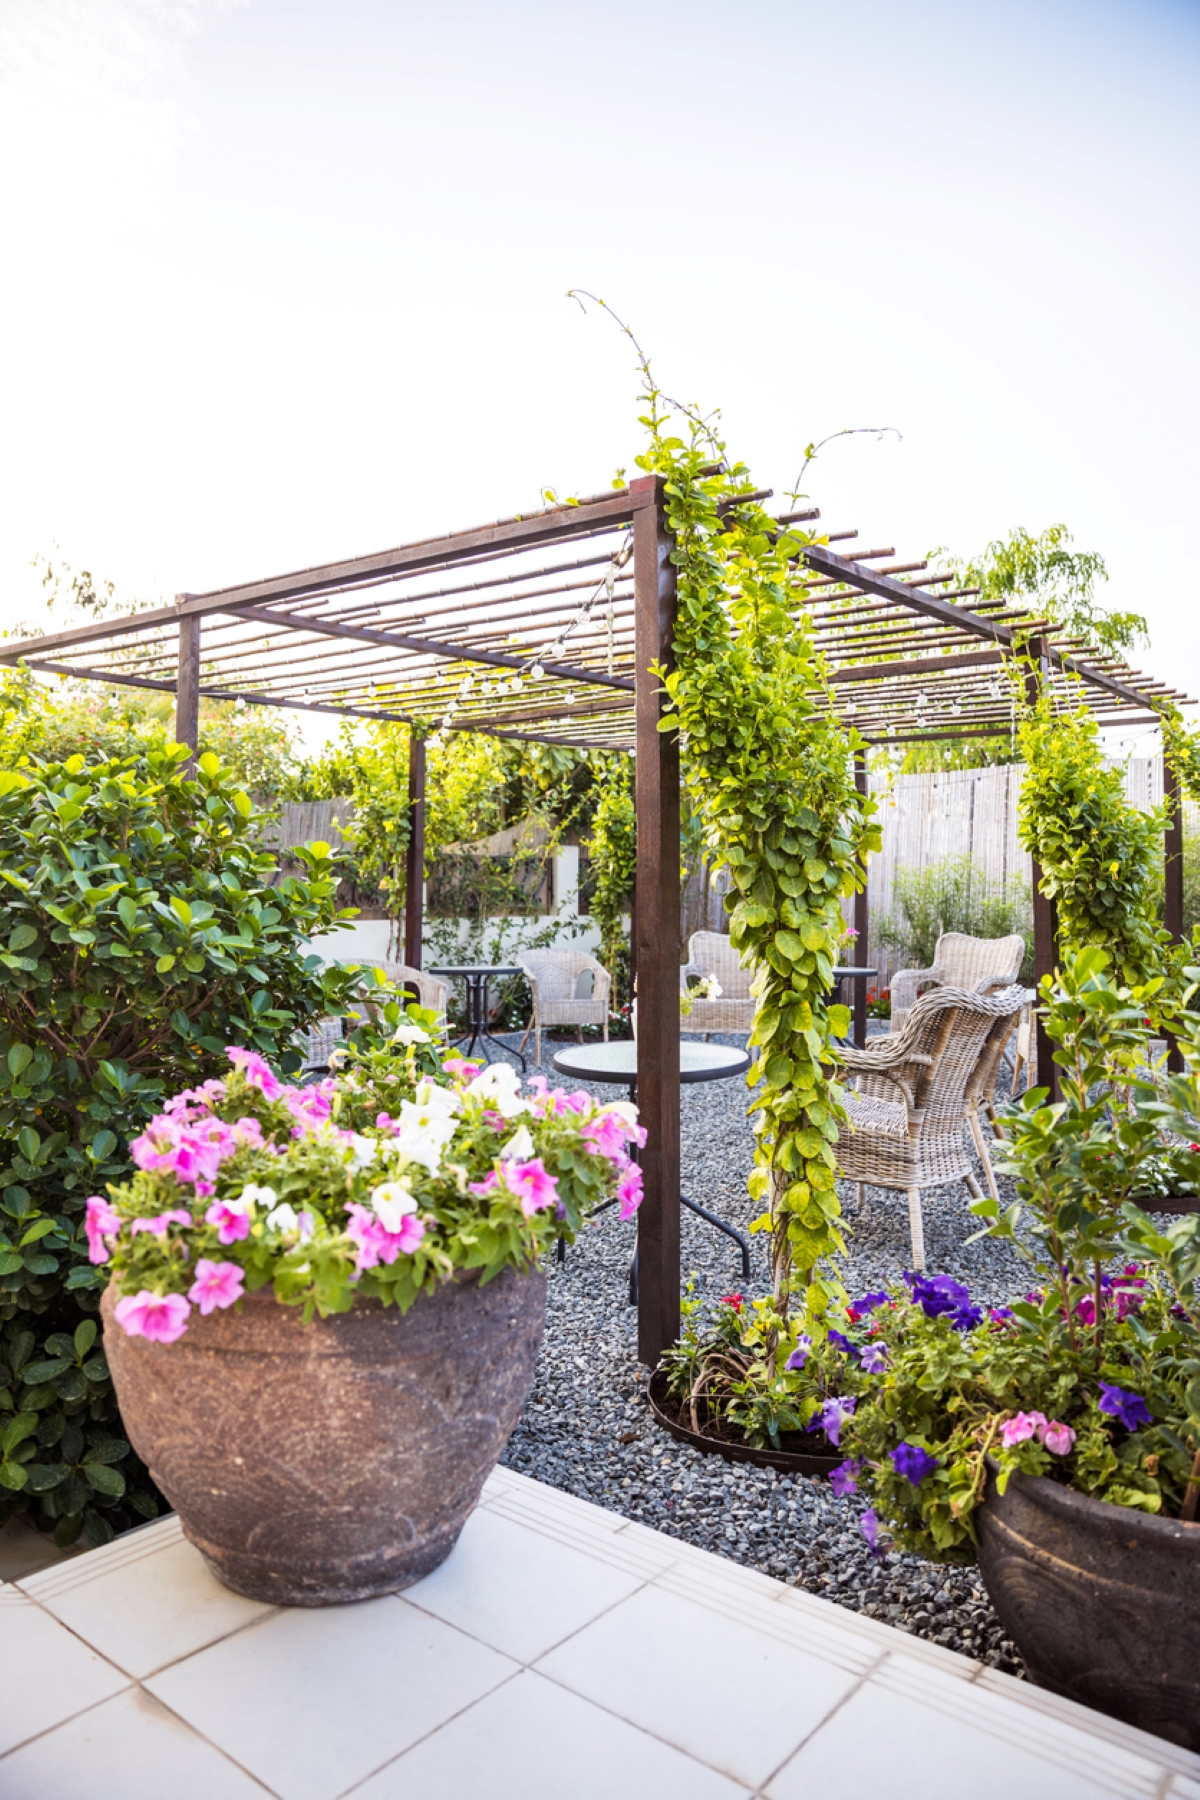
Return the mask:
{"type": "Polygon", "coordinates": [[[4,1800],[266,1800],[140,1688],[94,1706],[0,1762],[4,1800]]]}

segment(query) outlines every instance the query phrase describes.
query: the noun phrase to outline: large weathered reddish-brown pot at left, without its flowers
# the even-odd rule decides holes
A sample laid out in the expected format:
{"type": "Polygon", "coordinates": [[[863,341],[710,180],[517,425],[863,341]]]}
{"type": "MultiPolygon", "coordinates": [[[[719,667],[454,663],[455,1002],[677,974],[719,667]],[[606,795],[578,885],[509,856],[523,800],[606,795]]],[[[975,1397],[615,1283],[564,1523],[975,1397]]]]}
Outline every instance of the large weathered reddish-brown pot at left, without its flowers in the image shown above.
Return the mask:
{"type": "Polygon", "coordinates": [[[104,1352],[130,1442],[237,1593],[327,1606],[396,1593],[453,1550],[533,1381],[545,1276],[446,1282],[407,1314],[300,1321],[270,1287],[193,1312],[173,1345],[104,1352]]]}

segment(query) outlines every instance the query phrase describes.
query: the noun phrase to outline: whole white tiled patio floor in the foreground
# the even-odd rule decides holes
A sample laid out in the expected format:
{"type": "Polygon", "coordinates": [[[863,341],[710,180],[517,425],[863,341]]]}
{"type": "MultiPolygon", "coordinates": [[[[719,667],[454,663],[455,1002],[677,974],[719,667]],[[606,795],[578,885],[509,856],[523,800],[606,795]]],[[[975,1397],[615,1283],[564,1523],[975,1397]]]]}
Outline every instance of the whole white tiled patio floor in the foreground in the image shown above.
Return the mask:
{"type": "Polygon", "coordinates": [[[281,1609],[180,1534],[0,1584],[4,1800],[1200,1800],[1200,1757],[497,1471],[407,1593],[281,1609]]]}

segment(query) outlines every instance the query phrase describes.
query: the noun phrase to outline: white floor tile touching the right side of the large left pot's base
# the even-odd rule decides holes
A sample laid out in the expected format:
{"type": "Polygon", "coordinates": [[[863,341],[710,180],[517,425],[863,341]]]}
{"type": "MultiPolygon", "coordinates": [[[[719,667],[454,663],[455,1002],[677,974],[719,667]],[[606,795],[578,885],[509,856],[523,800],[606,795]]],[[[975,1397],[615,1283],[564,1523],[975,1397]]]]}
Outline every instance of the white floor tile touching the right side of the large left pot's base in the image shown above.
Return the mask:
{"type": "Polygon", "coordinates": [[[640,1577],[495,1512],[477,1512],[405,1600],[531,1663],[640,1586],[640,1577]]]}

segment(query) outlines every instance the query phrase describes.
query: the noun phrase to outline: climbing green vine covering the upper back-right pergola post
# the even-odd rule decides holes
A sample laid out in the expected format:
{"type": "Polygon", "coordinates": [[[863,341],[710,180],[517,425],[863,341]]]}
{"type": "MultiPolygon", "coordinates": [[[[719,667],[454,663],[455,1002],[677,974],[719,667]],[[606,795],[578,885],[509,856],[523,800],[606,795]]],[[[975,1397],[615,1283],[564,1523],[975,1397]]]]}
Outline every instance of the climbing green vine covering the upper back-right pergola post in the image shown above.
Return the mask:
{"type": "Polygon", "coordinates": [[[1132,985],[1166,968],[1169,940],[1157,893],[1166,808],[1139,812],[1119,769],[1105,765],[1092,715],[1056,713],[1042,697],[1020,720],[1025,779],[1022,846],[1042,864],[1065,958],[1099,945],[1132,985]]]}

